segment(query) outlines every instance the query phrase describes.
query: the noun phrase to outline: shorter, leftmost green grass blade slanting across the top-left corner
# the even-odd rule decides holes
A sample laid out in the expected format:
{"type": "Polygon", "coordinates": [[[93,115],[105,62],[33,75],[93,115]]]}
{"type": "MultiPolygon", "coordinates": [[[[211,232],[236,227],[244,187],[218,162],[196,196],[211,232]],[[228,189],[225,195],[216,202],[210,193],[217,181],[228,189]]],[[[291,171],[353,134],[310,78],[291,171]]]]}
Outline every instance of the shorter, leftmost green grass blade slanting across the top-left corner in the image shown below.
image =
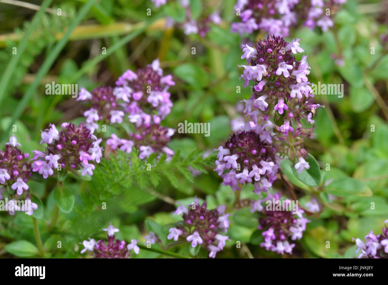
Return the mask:
{"type": "Polygon", "coordinates": [[[29,27],[28,27],[26,33],[24,34],[22,40],[19,42],[19,45],[16,48],[17,53],[15,55],[11,56],[12,58],[9,61],[7,67],[5,68],[3,76],[0,80],[0,103],[2,102],[3,97],[4,97],[4,92],[6,90],[5,86],[7,86],[12,74],[14,73],[15,67],[17,66],[17,63],[19,62],[21,55],[23,54],[24,50],[27,47],[29,36],[31,36],[32,31],[35,29],[36,25],[40,21],[40,18],[43,16],[45,9],[47,7],[49,7],[51,2],[52,2],[52,0],[45,0],[42,3],[41,9],[38,12],[36,12],[31,23],[29,24],[29,27]]]}

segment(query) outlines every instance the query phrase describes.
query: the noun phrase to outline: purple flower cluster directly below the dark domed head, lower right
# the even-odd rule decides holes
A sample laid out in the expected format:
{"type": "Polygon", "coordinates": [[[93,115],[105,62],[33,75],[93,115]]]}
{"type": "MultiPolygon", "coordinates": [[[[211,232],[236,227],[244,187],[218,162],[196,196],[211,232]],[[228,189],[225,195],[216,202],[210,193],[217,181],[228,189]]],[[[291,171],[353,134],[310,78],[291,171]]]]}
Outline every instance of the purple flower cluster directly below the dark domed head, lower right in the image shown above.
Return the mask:
{"type": "Polygon", "coordinates": [[[284,252],[291,254],[295,244],[290,244],[290,239],[300,240],[309,220],[303,217],[302,209],[293,209],[296,210],[295,213],[290,209],[289,199],[284,200],[285,209],[283,209],[280,197],[279,193],[274,195],[268,193],[265,199],[253,201],[251,212],[258,211],[261,215],[258,229],[263,230],[264,242],[260,246],[278,254],[284,254],[284,252]],[[266,203],[267,206],[264,208],[262,202],[268,200],[271,203],[266,203]],[[270,207],[273,202],[276,205],[274,208],[270,207]]]}

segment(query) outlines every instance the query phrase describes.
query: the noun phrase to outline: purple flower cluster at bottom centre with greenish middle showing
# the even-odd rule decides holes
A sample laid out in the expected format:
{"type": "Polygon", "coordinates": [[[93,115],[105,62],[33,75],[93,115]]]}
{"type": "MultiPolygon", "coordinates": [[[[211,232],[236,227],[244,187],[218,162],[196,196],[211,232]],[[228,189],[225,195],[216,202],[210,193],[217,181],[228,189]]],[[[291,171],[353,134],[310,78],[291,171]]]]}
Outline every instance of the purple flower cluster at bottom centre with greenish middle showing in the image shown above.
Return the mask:
{"type": "Polygon", "coordinates": [[[187,207],[180,203],[174,214],[183,214],[183,221],[176,223],[175,228],[170,228],[167,238],[175,241],[178,238],[185,238],[191,242],[192,247],[200,244],[210,251],[209,257],[214,258],[217,252],[223,249],[228,239],[227,236],[221,234],[226,233],[229,228],[229,214],[224,214],[224,211],[225,206],[208,210],[206,201],[201,206],[197,198],[187,207]]]}

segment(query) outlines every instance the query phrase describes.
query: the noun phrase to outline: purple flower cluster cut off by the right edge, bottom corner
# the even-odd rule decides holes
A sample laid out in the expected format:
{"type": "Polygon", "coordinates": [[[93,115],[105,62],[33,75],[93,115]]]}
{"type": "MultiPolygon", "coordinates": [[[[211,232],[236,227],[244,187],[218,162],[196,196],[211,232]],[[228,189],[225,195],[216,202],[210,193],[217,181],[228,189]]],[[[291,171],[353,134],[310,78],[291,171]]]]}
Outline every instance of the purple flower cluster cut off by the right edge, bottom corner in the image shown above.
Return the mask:
{"type": "MultiPolygon", "coordinates": [[[[385,220],[388,224],[388,220],[385,220]]],[[[388,228],[382,229],[380,235],[374,235],[373,231],[365,236],[365,243],[360,238],[353,238],[356,242],[357,253],[360,249],[361,252],[358,258],[388,258],[388,228]]]]}

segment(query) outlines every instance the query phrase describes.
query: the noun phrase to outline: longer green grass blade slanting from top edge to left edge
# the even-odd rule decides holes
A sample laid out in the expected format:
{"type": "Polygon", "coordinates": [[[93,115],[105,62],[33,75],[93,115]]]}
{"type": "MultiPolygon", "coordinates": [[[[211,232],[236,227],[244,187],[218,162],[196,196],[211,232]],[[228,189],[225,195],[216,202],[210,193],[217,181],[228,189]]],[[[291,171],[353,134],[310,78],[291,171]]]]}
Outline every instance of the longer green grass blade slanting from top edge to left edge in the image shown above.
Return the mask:
{"type": "Polygon", "coordinates": [[[20,100],[19,104],[17,105],[14,114],[12,115],[12,119],[10,121],[10,124],[7,128],[7,130],[2,133],[2,136],[0,138],[0,141],[3,141],[5,136],[9,133],[10,129],[12,128],[12,124],[21,116],[24,107],[28,104],[29,100],[33,96],[34,92],[36,91],[36,88],[38,87],[40,80],[47,74],[50,67],[54,63],[55,59],[61,52],[61,50],[64,48],[66,43],[69,40],[69,36],[71,35],[71,32],[73,29],[80,24],[82,19],[86,16],[92,5],[94,4],[95,0],[88,0],[88,2],[83,5],[80,9],[80,12],[78,15],[74,18],[74,21],[71,23],[71,25],[68,28],[68,31],[64,34],[63,38],[61,38],[60,41],[55,45],[55,47],[50,51],[49,55],[43,62],[42,66],[40,67],[38,73],[36,74],[34,82],[28,87],[26,93],[24,93],[23,98],[20,100]]]}

